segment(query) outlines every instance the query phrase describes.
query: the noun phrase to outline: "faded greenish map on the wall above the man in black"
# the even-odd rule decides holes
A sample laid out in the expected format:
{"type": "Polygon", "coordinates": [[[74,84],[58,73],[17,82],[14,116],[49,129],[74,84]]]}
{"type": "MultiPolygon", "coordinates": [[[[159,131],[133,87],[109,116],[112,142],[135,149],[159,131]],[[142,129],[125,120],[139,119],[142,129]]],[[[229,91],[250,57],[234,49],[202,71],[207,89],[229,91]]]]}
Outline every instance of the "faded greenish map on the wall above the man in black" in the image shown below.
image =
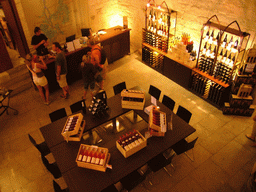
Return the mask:
{"type": "Polygon", "coordinates": [[[69,17],[70,11],[64,0],[58,0],[55,11],[50,10],[46,6],[46,0],[43,0],[43,11],[42,15],[39,16],[41,21],[40,28],[50,41],[55,40],[57,35],[64,34],[61,28],[69,22],[69,17]]]}

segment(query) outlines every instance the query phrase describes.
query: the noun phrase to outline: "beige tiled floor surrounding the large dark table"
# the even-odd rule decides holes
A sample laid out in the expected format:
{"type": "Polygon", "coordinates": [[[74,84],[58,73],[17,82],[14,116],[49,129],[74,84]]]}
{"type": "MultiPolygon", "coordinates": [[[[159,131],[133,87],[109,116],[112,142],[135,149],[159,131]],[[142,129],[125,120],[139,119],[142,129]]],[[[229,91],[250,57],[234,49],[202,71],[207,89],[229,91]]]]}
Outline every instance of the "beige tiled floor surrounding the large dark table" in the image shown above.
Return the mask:
{"type": "MultiPolygon", "coordinates": [[[[217,108],[142,64],[137,57],[131,54],[109,65],[105,81],[108,97],[114,95],[112,87],[122,81],[126,81],[128,88],[139,85],[145,91],[150,84],[155,85],[162,90],[160,100],[166,94],[176,101],[175,112],[178,105],[192,112],[190,124],[197,131],[189,139],[199,139],[194,148],[195,162],[186,155],[176,156],[173,160],[176,169],[167,166],[172,177],[160,170],[133,191],[239,191],[255,163],[256,148],[251,147],[252,142],[244,136],[251,131],[252,118],[224,116],[217,108]],[[149,179],[153,186],[148,183],[149,179]]],[[[70,92],[67,100],[59,97],[60,90],[54,92],[49,106],[43,104],[33,88],[11,98],[10,105],[18,109],[19,115],[0,117],[1,192],[53,191],[53,176],[43,166],[27,134],[42,142],[39,128],[50,123],[50,112],[65,107],[68,115],[71,114],[69,105],[81,99],[82,81],[70,85],[70,92]]],[[[63,180],[57,182],[65,187],[63,180]]]]}

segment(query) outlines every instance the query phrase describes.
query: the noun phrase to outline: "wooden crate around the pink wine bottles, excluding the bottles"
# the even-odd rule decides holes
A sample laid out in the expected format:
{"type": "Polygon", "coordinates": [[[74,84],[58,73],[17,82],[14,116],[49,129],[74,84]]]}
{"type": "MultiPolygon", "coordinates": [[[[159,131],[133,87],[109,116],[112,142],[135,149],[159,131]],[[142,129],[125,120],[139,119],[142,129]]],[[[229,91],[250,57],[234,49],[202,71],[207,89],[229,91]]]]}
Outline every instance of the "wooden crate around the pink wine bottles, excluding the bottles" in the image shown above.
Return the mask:
{"type": "Polygon", "coordinates": [[[85,144],[81,144],[77,157],[76,157],[76,163],[78,167],[83,167],[83,168],[87,168],[87,169],[94,169],[97,171],[102,171],[102,172],[106,172],[107,169],[107,165],[110,159],[110,153],[108,153],[108,148],[103,148],[103,147],[98,147],[98,146],[93,146],[93,145],[85,145],[85,144]],[[103,159],[103,164],[94,164],[94,163],[87,163],[87,162],[83,162],[83,161],[79,161],[79,155],[81,153],[81,150],[86,147],[87,150],[97,150],[97,151],[104,151],[104,159],[103,159]]]}

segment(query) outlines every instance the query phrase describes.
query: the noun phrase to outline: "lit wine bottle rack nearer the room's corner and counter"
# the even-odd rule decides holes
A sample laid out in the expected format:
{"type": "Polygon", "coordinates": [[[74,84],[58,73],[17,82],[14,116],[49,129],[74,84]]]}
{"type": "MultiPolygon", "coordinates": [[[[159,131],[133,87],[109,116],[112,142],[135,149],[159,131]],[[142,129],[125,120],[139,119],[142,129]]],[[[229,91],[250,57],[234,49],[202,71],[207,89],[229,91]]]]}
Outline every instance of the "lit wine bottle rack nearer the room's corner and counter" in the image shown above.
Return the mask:
{"type": "Polygon", "coordinates": [[[165,1],[159,6],[147,4],[142,29],[142,61],[156,70],[162,70],[169,38],[176,33],[176,20],[177,12],[169,10],[165,1]]]}

